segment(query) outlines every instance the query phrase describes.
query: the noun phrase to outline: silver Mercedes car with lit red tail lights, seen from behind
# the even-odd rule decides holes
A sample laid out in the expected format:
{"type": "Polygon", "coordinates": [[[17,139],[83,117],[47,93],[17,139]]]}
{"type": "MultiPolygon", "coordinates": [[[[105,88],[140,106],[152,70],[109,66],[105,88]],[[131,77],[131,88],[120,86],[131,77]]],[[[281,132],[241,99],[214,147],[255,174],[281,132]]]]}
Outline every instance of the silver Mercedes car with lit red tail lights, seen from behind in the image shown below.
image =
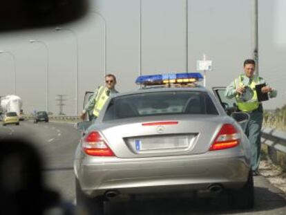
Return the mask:
{"type": "Polygon", "coordinates": [[[249,140],[202,86],[109,98],[82,135],[74,169],[77,205],[92,213],[115,196],[173,191],[223,192],[233,208],[254,205],[249,140]]]}

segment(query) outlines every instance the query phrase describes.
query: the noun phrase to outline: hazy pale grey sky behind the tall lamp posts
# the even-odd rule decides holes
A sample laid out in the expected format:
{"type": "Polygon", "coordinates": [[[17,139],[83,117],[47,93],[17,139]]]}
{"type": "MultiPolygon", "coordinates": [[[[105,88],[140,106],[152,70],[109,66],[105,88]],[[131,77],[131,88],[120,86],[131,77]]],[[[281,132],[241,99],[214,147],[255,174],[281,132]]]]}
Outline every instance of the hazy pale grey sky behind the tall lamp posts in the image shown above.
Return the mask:
{"type": "MultiPolygon", "coordinates": [[[[185,0],[142,0],[142,73],[170,73],[186,70],[185,0]]],[[[260,76],[278,90],[278,97],[264,102],[266,109],[286,104],[286,1],[259,2],[260,76]]],[[[104,20],[106,20],[106,63],[108,73],[117,76],[119,91],[137,88],[140,72],[140,1],[91,1],[88,15],[73,24],[79,45],[79,111],[85,91],[103,84],[104,20]],[[95,3],[96,2],[96,3],[95,3]]],[[[207,88],[226,86],[242,72],[244,59],[251,57],[252,19],[249,0],[189,0],[189,71],[203,53],[213,61],[207,73],[207,88]]],[[[57,26],[55,26],[57,27],[57,26]]],[[[26,112],[46,109],[46,68],[49,75],[49,109],[59,113],[55,97],[66,95],[64,113],[75,114],[75,36],[55,28],[1,33],[0,50],[15,56],[17,95],[26,112]],[[43,44],[30,44],[38,39],[43,44]]],[[[0,54],[0,95],[13,93],[14,62],[0,54]]]]}

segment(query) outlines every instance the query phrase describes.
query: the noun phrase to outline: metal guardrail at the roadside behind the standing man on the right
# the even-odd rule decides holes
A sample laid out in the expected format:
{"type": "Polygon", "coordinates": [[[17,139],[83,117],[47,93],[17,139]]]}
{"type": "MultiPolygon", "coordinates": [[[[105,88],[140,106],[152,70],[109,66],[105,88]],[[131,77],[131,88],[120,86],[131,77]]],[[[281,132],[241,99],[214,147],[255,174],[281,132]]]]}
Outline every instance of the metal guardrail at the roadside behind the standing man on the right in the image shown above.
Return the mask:
{"type": "Polygon", "coordinates": [[[286,132],[263,127],[261,142],[267,145],[267,153],[272,162],[278,164],[277,151],[286,153],[286,132]]]}

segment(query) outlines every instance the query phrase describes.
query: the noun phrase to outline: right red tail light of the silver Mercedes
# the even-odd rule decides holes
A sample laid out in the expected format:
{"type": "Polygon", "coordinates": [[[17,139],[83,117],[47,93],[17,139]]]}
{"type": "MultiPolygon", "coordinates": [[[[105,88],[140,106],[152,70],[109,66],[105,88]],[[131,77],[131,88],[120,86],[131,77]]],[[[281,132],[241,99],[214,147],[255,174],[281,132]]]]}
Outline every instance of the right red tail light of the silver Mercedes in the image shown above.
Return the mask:
{"type": "Polygon", "coordinates": [[[209,150],[229,149],[238,146],[239,143],[240,133],[237,129],[232,124],[224,124],[209,150]]]}

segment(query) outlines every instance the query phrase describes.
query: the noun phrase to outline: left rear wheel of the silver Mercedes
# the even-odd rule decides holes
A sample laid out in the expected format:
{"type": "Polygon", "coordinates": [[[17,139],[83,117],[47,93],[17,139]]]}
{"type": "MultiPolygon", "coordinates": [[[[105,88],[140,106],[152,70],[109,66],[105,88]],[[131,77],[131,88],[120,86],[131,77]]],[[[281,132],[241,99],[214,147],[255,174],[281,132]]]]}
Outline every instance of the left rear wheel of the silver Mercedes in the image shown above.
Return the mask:
{"type": "Polygon", "coordinates": [[[75,198],[79,214],[104,214],[104,199],[102,196],[88,198],[79,185],[79,180],[75,178],[75,198]],[[82,213],[81,213],[82,212],[82,213]]]}

